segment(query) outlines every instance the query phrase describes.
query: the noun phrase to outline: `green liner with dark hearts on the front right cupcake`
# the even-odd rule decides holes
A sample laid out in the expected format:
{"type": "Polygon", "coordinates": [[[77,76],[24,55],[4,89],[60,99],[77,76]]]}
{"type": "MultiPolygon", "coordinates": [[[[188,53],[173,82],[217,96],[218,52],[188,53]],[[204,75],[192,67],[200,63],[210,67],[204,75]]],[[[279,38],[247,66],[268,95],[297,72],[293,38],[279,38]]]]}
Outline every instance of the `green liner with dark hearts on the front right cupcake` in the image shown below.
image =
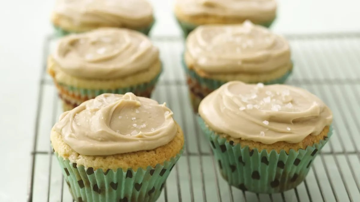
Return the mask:
{"type": "Polygon", "coordinates": [[[311,163],[332,135],[305,150],[259,151],[250,150],[227,141],[209,129],[201,117],[198,122],[211,143],[212,151],[219,164],[220,173],[230,185],[255,193],[278,193],[292,189],[306,177],[311,163]]]}

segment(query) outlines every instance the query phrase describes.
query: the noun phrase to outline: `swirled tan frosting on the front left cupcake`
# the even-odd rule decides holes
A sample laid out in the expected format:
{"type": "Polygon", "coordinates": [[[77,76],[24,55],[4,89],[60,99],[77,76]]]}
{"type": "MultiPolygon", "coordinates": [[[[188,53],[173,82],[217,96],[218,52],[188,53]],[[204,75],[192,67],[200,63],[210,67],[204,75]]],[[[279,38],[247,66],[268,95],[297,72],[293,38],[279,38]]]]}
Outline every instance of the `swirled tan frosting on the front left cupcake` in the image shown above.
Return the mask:
{"type": "Polygon", "coordinates": [[[175,137],[177,127],[165,103],[108,93],[64,112],[54,130],[77,153],[101,156],[163,146],[175,137]]]}

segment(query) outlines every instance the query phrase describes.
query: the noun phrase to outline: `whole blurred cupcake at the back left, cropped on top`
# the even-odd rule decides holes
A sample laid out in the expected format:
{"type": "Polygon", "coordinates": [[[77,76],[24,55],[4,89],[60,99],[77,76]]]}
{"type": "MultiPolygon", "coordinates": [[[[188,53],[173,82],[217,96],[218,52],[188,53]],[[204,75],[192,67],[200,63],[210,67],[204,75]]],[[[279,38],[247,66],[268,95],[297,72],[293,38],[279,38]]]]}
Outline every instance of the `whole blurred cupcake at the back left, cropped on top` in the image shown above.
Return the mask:
{"type": "Polygon", "coordinates": [[[129,28],[148,35],[154,24],[147,0],[57,0],[51,21],[58,36],[100,27],[129,28]]]}

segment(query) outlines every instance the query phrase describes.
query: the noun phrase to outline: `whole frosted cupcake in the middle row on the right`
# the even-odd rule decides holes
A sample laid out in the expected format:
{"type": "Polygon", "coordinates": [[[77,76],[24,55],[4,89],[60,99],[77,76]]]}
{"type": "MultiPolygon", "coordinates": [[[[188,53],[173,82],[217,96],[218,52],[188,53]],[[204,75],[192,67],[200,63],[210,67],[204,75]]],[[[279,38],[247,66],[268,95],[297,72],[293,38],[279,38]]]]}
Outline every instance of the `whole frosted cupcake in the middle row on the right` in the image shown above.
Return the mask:
{"type": "Polygon", "coordinates": [[[283,83],[293,67],[287,40],[249,21],[196,28],[186,39],[183,66],[195,111],[226,82],[283,83]]]}

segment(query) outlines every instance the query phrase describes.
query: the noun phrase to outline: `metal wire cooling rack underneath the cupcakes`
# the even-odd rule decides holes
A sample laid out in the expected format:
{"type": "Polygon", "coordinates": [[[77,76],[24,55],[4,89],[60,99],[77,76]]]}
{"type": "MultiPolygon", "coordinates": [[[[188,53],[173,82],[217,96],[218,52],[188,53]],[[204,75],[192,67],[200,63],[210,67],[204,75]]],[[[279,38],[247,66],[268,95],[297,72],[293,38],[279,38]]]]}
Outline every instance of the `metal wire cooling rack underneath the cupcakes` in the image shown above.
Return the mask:
{"type": "MultiPolygon", "coordinates": [[[[360,201],[360,33],[288,35],[294,70],[288,84],[318,95],[334,113],[334,135],[315,159],[306,180],[278,194],[255,194],[230,187],[202,136],[181,69],[184,41],[154,37],[164,72],[153,98],[166,102],[184,130],[186,150],[167,179],[159,202],[358,202],[360,201]]],[[[31,152],[28,201],[73,201],[50,146],[50,129],[61,113],[46,58],[55,38],[44,43],[36,127],[31,152]]]]}

